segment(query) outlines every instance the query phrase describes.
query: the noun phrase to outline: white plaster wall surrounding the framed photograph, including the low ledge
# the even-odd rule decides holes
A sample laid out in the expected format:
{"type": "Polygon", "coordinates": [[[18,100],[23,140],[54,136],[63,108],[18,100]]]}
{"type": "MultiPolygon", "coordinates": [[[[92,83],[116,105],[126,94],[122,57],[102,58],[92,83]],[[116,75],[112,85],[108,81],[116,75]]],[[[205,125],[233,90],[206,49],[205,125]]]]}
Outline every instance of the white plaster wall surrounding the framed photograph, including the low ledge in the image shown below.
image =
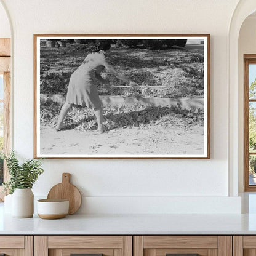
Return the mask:
{"type": "Polygon", "coordinates": [[[239,212],[239,198],[228,198],[227,80],[228,26],[238,0],[3,2],[14,26],[14,149],[23,158],[33,158],[33,34],[211,36],[211,159],[48,159],[33,189],[37,196],[70,172],[85,197],[81,212],[239,212]]]}

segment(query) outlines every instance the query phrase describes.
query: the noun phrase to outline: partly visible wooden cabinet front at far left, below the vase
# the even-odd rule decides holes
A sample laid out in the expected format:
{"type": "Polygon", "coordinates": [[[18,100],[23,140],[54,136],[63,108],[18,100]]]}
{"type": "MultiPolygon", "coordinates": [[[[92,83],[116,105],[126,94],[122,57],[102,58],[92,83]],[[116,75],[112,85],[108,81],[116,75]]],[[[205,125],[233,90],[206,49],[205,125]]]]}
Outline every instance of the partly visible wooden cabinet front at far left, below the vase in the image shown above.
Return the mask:
{"type": "Polygon", "coordinates": [[[0,255],[33,256],[33,236],[0,236],[0,255]]]}

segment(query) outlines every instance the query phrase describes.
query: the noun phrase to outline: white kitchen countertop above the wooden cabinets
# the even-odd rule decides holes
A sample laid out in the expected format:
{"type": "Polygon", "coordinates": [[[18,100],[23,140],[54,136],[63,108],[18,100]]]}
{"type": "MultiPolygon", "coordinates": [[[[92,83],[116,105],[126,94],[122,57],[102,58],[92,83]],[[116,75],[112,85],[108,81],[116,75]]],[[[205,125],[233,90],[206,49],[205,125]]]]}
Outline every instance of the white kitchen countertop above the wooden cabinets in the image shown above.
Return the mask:
{"type": "Polygon", "coordinates": [[[0,234],[256,234],[256,214],[74,214],[12,218],[0,204],[0,234]]]}

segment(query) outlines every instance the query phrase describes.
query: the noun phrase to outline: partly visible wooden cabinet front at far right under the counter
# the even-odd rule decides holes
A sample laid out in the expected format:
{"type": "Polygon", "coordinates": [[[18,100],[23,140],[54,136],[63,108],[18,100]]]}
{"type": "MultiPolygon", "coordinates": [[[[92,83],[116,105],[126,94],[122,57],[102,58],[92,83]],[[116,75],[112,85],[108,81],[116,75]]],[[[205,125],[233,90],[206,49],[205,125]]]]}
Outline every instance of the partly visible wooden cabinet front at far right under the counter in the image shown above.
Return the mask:
{"type": "Polygon", "coordinates": [[[234,256],[255,256],[256,236],[233,236],[234,256]]]}

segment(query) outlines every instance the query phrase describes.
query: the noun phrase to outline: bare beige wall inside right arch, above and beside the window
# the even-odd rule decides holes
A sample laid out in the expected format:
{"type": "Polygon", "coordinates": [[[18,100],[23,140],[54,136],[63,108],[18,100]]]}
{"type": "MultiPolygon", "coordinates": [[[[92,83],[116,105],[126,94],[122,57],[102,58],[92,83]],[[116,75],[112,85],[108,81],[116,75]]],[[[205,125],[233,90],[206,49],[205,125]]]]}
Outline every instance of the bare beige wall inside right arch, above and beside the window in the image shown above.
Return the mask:
{"type": "Polygon", "coordinates": [[[256,54],[256,15],[244,20],[239,33],[239,192],[244,191],[244,54],[256,54]]]}

